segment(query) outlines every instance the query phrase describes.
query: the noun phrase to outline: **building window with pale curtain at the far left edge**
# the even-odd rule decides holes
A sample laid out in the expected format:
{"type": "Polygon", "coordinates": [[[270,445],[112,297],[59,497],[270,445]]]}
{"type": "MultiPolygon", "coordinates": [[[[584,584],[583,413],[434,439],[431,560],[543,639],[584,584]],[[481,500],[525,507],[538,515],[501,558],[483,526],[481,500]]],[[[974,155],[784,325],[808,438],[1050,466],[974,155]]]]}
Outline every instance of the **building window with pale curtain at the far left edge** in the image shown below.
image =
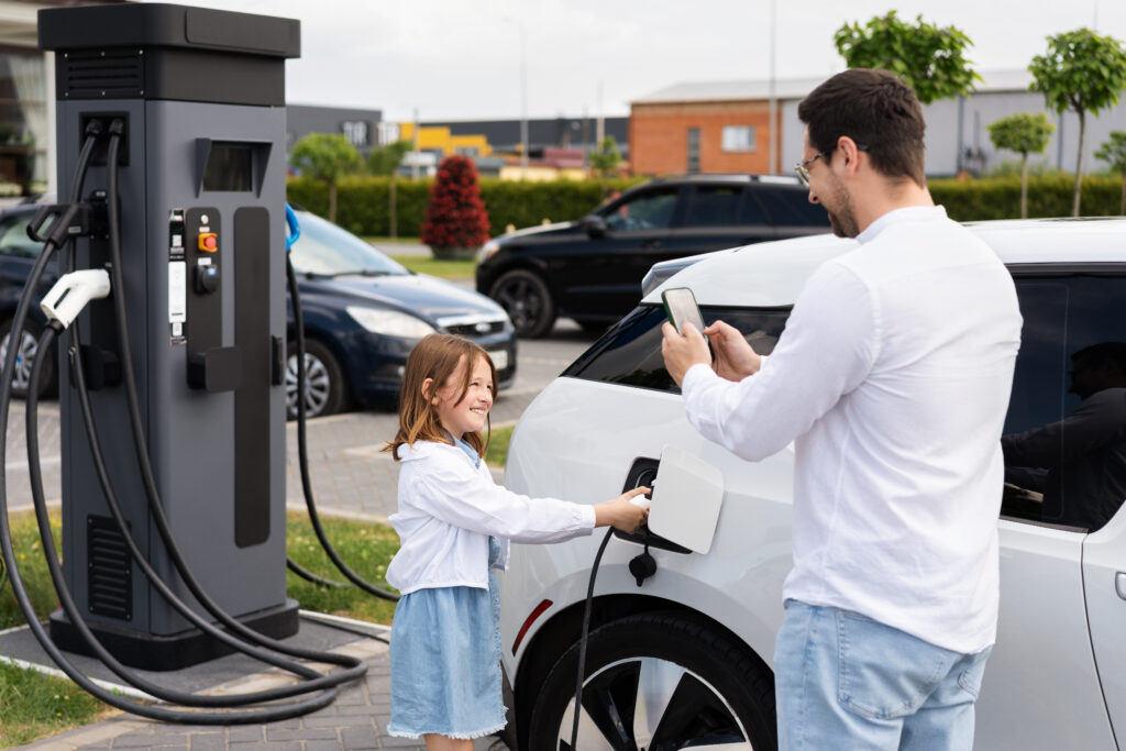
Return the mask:
{"type": "Polygon", "coordinates": [[[46,99],[43,55],[0,48],[0,195],[46,190],[46,99]]]}

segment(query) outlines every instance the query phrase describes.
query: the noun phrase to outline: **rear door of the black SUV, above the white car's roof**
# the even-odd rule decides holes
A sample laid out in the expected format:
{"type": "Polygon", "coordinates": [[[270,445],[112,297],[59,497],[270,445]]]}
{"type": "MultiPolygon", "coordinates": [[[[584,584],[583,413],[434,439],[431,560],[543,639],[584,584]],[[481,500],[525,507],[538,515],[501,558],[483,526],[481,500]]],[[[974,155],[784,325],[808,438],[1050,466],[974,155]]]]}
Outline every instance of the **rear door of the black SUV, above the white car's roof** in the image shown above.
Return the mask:
{"type": "MultiPolygon", "coordinates": [[[[672,229],[665,247],[652,254],[650,266],[774,239],[774,229],[747,186],[696,185],[687,196],[683,218],[672,229]]],[[[647,270],[642,270],[643,277],[647,270]]]]}

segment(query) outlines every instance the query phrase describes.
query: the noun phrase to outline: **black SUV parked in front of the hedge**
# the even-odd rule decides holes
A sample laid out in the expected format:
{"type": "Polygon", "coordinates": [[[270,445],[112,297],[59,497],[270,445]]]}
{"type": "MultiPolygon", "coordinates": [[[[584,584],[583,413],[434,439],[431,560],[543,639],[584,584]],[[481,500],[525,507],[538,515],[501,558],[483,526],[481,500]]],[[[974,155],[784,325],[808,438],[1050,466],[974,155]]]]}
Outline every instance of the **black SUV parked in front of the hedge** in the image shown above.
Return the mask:
{"type": "Polygon", "coordinates": [[[521,337],[542,337],[557,316],[598,330],[641,299],[653,263],[817,234],[825,209],[796,178],[698,175],[632,188],[578,222],[528,227],[481,250],[477,292],[500,303],[521,337]]]}

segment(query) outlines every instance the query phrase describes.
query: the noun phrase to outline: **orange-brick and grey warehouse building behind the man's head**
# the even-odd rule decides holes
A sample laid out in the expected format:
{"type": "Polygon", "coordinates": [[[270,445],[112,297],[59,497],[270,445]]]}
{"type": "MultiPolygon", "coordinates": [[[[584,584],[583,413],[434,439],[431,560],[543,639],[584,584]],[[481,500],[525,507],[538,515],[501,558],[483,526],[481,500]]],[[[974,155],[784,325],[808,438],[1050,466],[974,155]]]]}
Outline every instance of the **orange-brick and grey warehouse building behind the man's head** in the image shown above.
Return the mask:
{"type": "MultiPolygon", "coordinates": [[[[976,91],[923,107],[927,119],[927,173],[978,175],[1019,154],[999,152],[988,126],[1016,113],[1046,113],[1055,124],[1047,151],[1031,164],[1074,171],[1079,151],[1079,117],[1057,115],[1040,93],[1028,90],[1024,70],[983,72],[976,91]]],[[[776,164],[789,172],[801,161],[805,127],[797,106],[824,79],[792,79],[775,84],[776,164]]],[[[767,172],[770,169],[770,93],[767,81],[681,83],[632,104],[631,167],[635,175],[694,172],[767,172]]],[[[1126,99],[1099,117],[1087,118],[1083,171],[1106,169],[1094,152],[1110,131],[1126,131],[1126,99]]]]}

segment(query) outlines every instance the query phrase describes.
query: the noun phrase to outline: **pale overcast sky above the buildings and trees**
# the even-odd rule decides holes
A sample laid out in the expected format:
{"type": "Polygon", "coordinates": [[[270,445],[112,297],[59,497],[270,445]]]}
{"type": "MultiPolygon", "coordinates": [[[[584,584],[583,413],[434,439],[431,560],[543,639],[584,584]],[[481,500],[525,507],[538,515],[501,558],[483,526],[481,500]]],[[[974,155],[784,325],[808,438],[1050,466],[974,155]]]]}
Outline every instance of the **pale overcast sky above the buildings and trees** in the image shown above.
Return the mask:
{"type": "Polygon", "coordinates": [[[1126,0],[177,1],[301,20],[286,100],[385,120],[628,115],[674,83],[769,79],[771,26],[777,79],[824,78],[844,69],[833,33],[893,9],[962,29],[978,71],[1025,69],[1084,26],[1126,42],[1126,0]]]}

